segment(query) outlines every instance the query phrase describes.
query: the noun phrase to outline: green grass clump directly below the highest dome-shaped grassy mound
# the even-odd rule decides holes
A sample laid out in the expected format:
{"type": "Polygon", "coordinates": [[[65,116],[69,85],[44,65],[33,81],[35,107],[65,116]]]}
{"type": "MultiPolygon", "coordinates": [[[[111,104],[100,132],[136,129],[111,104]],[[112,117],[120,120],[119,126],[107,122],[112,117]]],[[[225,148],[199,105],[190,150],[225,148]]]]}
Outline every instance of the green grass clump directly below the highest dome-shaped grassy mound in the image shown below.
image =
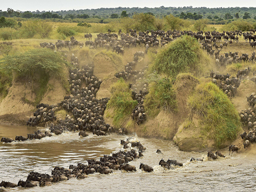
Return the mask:
{"type": "Polygon", "coordinates": [[[157,116],[162,109],[177,111],[176,94],[169,78],[160,78],[150,83],[144,105],[147,113],[153,117],[157,116]]]}

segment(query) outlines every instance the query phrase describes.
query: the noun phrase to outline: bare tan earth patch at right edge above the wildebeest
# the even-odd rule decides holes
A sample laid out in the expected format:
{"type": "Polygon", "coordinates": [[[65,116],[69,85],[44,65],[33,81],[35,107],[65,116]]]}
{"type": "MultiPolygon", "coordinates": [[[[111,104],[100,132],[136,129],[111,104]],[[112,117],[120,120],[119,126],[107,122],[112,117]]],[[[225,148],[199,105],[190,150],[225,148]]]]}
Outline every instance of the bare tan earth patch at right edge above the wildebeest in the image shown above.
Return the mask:
{"type": "Polygon", "coordinates": [[[237,94],[231,99],[231,102],[239,112],[244,109],[248,109],[249,105],[246,97],[249,97],[251,93],[256,93],[256,85],[250,80],[244,80],[237,88],[237,94]]]}

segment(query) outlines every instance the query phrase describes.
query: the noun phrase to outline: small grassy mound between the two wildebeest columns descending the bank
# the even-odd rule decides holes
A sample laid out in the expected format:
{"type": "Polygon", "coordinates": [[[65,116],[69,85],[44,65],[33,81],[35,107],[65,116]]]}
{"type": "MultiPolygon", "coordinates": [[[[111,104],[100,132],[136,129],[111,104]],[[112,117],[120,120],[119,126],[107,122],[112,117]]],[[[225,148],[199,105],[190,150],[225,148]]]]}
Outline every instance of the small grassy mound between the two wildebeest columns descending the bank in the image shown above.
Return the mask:
{"type": "Polygon", "coordinates": [[[132,99],[129,85],[122,78],[111,86],[110,92],[111,97],[107,104],[105,116],[107,119],[112,119],[111,124],[120,128],[125,123],[125,119],[131,116],[132,110],[138,102],[132,99]]]}

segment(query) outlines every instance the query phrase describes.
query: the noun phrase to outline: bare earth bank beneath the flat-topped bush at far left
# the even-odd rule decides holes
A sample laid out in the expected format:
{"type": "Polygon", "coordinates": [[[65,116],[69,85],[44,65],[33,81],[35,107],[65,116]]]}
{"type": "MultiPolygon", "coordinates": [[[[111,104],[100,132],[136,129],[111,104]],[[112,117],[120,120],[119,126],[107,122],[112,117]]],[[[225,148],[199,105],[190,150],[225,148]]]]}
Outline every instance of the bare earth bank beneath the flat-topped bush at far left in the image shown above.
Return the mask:
{"type": "MultiPolygon", "coordinates": [[[[66,90],[60,79],[51,77],[41,103],[52,105],[63,100],[66,90]]],[[[28,118],[36,110],[36,95],[31,83],[13,82],[7,96],[0,103],[0,124],[26,125],[28,118]]]]}

